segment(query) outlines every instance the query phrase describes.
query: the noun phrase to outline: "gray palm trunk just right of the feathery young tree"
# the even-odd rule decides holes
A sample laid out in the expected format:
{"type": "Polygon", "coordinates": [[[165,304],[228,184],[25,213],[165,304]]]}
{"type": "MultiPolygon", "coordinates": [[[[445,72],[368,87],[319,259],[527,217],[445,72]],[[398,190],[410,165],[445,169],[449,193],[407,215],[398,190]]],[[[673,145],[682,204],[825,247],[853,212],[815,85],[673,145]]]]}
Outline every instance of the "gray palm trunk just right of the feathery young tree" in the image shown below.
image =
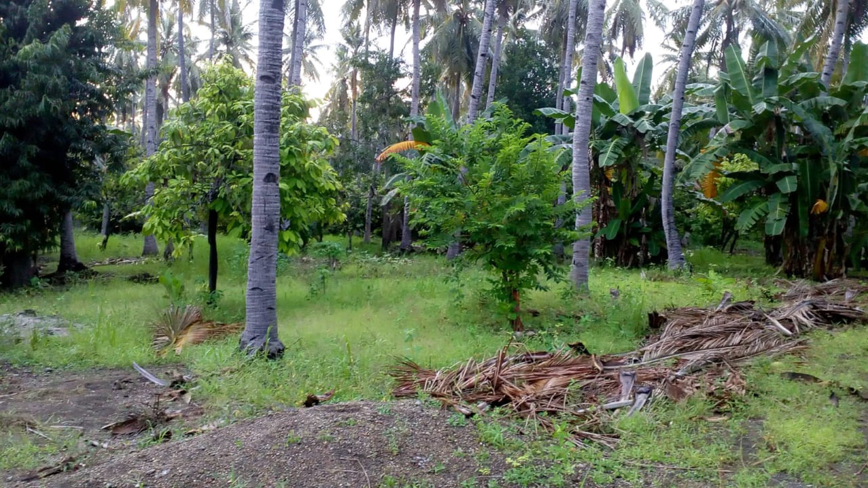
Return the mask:
{"type": "MultiPolygon", "coordinates": [[[[573,131],[573,199],[582,205],[591,196],[589,168],[589,137],[591,132],[591,109],[594,104],[594,87],[597,76],[597,58],[600,55],[602,24],[606,0],[590,0],[586,24],[585,50],[582,55],[582,80],[579,81],[579,100],[575,110],[573,131]]],[[[591,223],[591,208],[585,205],[575,214],[575,228],[582,229],[591,223]]],[[[589,237],[573,243],[573,263],[569,270],[570,280],[577,290],[588,290],[589,237]]]]}

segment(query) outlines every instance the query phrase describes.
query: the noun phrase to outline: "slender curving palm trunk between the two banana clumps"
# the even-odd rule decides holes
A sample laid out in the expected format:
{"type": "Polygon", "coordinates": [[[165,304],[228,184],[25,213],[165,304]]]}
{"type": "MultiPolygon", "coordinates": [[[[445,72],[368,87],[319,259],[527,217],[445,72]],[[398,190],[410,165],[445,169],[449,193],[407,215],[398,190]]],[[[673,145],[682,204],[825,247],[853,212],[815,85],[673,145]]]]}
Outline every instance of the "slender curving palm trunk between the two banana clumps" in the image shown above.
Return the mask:
{"type": "Polygon", "coordinates": [[[675,89],[672,94],[672,114],[669,116],[669,133],[666,140],[666,158],[663,159],[663,191],[662,214],[663,232],[666,234],[666,249],[669,268],[674,270],[684,266],[684,252],[681,251],[681,239],[678,228],[675,227],[675,204],[673,190],[675,184],[675,151],[678,149],[678,136],[681,133],[681,109],[684,107],[684,89],[687,85],[687,73],[690,71],[690,59],[694,55],[696,31],[700,28],[702,7],[705,0],[694,0],[687,21],[687,32],[681,44],[681,59],[678,60],[678,72],[675,75],[675,89]]]}

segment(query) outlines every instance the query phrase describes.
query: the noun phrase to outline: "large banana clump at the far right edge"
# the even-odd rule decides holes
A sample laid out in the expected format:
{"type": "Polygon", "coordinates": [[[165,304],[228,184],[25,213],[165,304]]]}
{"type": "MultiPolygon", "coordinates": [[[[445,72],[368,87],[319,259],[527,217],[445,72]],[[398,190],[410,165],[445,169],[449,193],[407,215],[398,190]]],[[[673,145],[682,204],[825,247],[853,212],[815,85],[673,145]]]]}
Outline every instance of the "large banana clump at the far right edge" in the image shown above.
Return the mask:
{"type": "Polygon", "coordinates": [[[827,89],[806,62],[812,42],[797,44],[788,55],[766,42],[750,63],[735,46],[727,48],[727,74],[716,86],[694,92],[713,96],[722,128],[683,174],[694,180],[715,178],[709,174],[737,180],[716,197],[721,203],[753,198],[736,230],[748,231],[763,221],[766,243],[782,244],[778,259],[788,275],[823,279],[842,274],[846,255],[865,245],[852,237],[864,236],[858,227],[868,210],[868,112],[862,108],[868,49],[855,45],[853,68],[827,89]],[[720,159],[738,153],[753,160],[756,169],[718,171],[720,159]]]}

